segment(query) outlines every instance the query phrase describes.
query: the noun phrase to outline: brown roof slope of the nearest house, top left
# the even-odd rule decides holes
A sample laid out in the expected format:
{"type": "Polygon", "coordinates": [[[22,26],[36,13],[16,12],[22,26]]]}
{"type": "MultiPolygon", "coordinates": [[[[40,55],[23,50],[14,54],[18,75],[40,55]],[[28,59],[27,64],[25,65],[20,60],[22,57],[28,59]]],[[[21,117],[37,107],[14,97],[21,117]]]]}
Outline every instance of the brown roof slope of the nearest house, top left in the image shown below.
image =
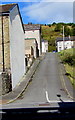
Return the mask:
{"type": "Polygon", "coordinates": [[[15,5],[17,4],[4,4],[4,5],[0,5],[0,13],[9,13],[10,10],[13,9],[13,7],[15,7],[15,5]]]}

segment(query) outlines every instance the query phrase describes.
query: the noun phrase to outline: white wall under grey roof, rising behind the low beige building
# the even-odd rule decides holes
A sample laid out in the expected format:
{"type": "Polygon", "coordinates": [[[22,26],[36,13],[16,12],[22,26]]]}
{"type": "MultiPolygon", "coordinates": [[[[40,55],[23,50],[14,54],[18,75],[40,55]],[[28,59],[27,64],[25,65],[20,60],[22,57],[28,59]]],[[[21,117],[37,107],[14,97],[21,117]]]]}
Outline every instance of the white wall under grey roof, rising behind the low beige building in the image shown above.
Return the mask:
{"type": "Polygon", "coordinates": [[[39,30],[25,31],[25,38],[35,38],[38,43],[39,55],[41,55],[41,39],[39,30]]]}

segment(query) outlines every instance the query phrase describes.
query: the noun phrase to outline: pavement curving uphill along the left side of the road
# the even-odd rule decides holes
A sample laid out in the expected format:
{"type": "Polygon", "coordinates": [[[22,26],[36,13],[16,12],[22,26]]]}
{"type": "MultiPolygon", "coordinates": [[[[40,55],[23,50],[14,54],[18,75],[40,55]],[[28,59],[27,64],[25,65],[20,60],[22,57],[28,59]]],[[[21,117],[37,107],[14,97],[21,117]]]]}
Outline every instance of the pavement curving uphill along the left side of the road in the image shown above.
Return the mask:
{"type": "Polygon", "coordinates": [[[10,93],[6,95],[0,96],[0,105],[12,103],[22,95],[22,93],[25,91],[29,83],[32,81],[32,77],[35,74],[35,71],[39,63],[41,62],[42,59],[44,59],[44,55],[45,54],[42,54],[39,58],[37,58],[34,61],[34,63],[30,67],[28,72],[22,77],[20,82],[13,89],[13,91],[11,91],[10,93]]]}

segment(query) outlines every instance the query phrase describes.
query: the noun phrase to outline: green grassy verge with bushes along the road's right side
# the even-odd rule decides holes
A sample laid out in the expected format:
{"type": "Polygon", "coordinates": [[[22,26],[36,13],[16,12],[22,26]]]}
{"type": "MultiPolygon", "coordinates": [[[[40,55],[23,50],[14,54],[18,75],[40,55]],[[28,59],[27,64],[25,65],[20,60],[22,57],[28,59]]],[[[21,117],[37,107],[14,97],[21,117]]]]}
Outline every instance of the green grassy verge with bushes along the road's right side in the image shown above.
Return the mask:
{"type": "Polygon", "coordinates": [[[75,86],[75,48],[61,51],[59,56],[65,66],[66,75],[75,86]]]}

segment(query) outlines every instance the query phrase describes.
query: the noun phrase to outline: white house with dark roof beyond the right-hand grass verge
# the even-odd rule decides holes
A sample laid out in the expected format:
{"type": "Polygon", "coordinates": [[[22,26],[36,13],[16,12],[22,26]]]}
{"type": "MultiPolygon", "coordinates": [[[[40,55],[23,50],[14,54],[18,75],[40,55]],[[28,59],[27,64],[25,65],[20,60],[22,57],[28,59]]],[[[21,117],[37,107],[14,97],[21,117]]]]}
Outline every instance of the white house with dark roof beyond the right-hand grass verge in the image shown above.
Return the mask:
{"type": "Polygon", "coordinates": [[[60,52],[64,49],[70,49],[75,47],[75,36],[72,37],[62,37],[56,39],[57,51],[60,52]]]}

